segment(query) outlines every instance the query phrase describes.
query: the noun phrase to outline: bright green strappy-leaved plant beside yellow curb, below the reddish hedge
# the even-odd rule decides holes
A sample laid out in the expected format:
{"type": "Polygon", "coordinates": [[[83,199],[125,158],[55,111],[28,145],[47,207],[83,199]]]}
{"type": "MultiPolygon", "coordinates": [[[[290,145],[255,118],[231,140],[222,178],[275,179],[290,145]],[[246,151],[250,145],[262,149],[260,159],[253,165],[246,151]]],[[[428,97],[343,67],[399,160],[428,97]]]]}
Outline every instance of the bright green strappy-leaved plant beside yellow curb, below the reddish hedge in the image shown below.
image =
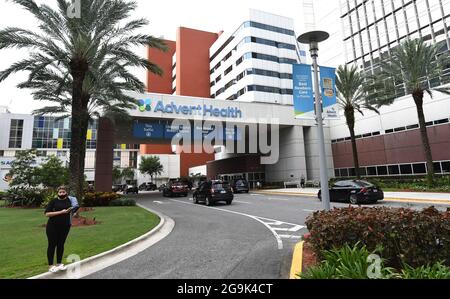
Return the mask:
{"type": "MultiPolygon", "coordinates": [[[[370,252],[366,246],[359,243],[353,247],[345,245],[342,248],[335,248],[323,251],[324,260],[320,265],[311,267],[301,275],[303,279],[368,279],[370,266],[372,265],[370,255],[380,253],[381,248],[370,252]],[[369,271],[368,271],[369,270],[369,271]]],[[[380,260],[380,272],[374,273],[377,279],[390,278],[393,269],[386,268],[380,260]],[[377,276],[378,275],[378,276],[377,276]]]]}

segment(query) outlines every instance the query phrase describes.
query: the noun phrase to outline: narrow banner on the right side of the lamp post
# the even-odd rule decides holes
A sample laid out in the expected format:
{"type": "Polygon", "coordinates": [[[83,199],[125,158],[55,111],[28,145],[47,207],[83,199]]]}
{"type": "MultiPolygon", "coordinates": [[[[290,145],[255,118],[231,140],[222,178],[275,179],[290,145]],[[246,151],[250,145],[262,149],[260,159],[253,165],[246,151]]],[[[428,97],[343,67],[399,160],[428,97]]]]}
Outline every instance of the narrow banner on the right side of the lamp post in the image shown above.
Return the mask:
{"type": "Polygon", "coordinates": [[[322,104],[326,118],[338,118],[336,98],[336,69],[320,67],[320,85],[322,87],[322,104]]]}

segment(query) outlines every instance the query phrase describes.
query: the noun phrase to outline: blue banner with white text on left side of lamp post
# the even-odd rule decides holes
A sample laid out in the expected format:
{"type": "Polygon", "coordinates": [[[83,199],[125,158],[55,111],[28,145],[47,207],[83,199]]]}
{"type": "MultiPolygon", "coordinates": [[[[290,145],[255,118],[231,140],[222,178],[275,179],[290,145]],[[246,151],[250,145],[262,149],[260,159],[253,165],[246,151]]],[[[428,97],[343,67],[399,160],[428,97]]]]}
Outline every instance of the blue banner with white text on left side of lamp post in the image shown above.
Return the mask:
{"type": "Polygon", "coordinates": [[[293,79],[295,115],[300,116],[308,112],[314,112],[311,65],[294,64],[293,79]]]}

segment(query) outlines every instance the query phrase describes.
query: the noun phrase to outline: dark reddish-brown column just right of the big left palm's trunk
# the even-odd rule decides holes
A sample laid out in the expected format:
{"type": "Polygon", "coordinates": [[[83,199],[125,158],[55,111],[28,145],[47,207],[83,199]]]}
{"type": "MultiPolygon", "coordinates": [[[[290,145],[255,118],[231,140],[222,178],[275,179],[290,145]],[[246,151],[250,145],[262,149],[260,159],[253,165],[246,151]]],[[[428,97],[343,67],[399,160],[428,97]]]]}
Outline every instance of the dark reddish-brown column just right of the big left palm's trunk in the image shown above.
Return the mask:
{"type": "Polygon", "coordinates": [[[95,190],[112,191],[112,169],[114,161],[114,125],[107,118],[100,118],[98,124],[97,152],[95,159],[95,190]]]}

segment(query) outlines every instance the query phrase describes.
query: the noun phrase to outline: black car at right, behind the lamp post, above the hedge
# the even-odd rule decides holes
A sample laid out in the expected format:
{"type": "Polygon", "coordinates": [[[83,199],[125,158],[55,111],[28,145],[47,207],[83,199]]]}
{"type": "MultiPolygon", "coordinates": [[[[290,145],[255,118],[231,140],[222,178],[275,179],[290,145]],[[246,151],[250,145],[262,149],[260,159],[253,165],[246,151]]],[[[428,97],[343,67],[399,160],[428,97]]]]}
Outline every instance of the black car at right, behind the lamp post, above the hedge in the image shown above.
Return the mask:
{"type": "MultiPolygon", "coordinates": [[[[322,200],[322,192],[318,197],[322,200]]],[[[330,201],[351,204],[374,204],[384,199],[384,192],[377,186],[361,180],[338,181],[330,187],[330,201]]]]}

